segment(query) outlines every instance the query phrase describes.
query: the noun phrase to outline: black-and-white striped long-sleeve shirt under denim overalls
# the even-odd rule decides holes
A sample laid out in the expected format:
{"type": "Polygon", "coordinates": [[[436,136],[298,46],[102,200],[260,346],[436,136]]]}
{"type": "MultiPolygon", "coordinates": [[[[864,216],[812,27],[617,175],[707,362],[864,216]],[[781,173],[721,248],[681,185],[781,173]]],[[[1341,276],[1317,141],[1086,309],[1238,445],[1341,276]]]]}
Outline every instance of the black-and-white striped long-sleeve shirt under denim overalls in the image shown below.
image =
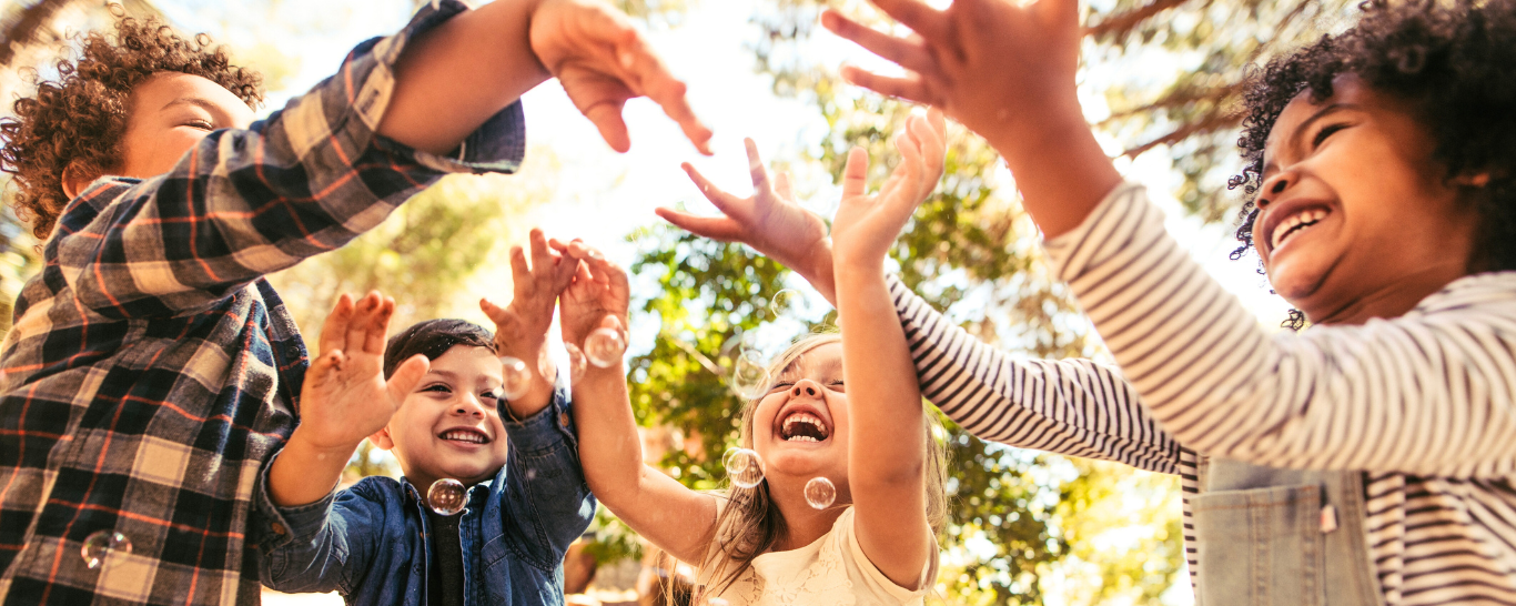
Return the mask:
{"type": "Polygon", "coordinates": [[[1186,527],[1196,451],[1363,471],[1386,603],[1516,604],[1516,273],[1454,280],[1398,318],[1270,335],[1140,186],[1048,251],[1120,370],[1011,359],[891,282],[922,392],[964,429],[1178,473],[1186,527]]]}

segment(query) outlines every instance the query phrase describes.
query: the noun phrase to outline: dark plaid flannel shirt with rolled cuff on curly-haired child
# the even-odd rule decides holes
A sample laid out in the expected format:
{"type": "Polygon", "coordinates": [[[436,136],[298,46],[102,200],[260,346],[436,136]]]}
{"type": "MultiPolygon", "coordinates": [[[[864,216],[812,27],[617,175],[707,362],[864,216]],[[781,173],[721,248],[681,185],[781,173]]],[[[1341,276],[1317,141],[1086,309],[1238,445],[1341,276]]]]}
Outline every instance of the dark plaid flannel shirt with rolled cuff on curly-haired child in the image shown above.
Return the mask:
{"type": "Polygon", "coordinates": [[[434,0],[309,94],[168,174],[73,200],[0,350],[0,603],[259,601],[259,467],[296,424],[306,350],[264,274],[353,239],[449,171],[512,171],[520,105],[456,158],[374,133],[434,0]],[[120,532],[130,553],[88,568],[120,532]]]}

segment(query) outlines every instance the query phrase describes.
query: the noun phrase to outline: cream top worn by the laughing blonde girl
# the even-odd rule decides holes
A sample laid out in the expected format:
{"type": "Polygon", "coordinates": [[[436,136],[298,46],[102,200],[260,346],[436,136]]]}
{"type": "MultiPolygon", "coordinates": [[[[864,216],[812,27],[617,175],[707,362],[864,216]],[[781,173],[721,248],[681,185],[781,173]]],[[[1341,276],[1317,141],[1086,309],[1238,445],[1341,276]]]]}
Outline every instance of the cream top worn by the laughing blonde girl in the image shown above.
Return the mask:
{"type": "Polygon", "coordinates": [[[854,509],[847,508],[837,517],[832,530],[810,545],[755,558],[752,567],[722,591],[720,597],[731,606],[922,604],[934,579],[937,558],[928,559],[916,589],[902,588],[884,576],[858,545],[854,509]]]}

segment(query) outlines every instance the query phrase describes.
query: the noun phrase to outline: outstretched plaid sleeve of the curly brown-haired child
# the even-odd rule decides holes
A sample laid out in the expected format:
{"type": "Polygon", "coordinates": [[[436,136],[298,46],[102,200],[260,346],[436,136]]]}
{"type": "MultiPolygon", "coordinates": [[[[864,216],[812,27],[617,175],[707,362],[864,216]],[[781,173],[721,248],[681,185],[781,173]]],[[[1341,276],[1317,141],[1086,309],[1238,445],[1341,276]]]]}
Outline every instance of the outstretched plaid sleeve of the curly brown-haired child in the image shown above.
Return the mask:
{"type": "Polygon", "coordinates": [[[79,303],[108,318],[199,311],[341,247],[444,173],[514,171],[525,152],[520,103],[450,158],[374,133],[409,36],[461,9],[440,3],[406,30],[364,42],[309,94],[247,130],[208,135],[168,174],[94,183],[71,205],[92,212],[65,212],[49,261],[79,303]]]}

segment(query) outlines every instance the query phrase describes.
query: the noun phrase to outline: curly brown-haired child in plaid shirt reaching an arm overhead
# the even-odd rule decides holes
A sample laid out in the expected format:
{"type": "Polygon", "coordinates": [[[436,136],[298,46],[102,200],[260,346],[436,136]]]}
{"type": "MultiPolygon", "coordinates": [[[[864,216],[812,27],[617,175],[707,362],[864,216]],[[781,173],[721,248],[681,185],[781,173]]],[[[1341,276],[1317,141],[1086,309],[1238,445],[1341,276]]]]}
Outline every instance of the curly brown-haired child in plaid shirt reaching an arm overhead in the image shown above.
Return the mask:
{"type": "Polygon", "coordinates": [[[253,485],[308,365],[262,276],[447,171],[514,170],[526,89],[558,76],[615,148],[637,94],[709,136],[625,17],[585,0],[426,3],[258,123],[255,76],[153,21],[86,36],[58,71],[0,123],[47,236],[0,350],[6,604],[256,603],[250,548],[283,529],[249,526],[253,485]]]}

